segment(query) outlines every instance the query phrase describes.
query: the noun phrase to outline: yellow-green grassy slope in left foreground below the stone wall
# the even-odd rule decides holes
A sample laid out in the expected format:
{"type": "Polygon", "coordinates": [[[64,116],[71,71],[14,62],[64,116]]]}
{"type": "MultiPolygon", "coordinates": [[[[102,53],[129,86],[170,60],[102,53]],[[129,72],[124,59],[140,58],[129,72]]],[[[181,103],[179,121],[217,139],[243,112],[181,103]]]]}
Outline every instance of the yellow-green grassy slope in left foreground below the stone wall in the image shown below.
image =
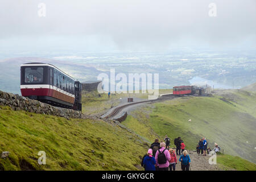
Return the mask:
{"type": "Polygon", "coordinates": [[[135,170],[147,150],[135,135],[106,122],[10,107],[0,107],[0,131],[0,151],[10,152],[0,158],[0,170],[135,170]],[[46,165],[39,166],[39,151],[46,151],[46,165]]]}

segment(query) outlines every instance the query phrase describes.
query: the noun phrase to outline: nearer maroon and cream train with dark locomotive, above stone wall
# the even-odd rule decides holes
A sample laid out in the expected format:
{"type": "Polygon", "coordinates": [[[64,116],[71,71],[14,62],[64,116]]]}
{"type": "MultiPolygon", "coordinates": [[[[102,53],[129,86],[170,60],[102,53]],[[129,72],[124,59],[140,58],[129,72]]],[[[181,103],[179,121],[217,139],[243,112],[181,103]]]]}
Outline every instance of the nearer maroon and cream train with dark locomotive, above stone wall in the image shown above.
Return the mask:
{"type": "Polygon", "coordinates": [[[81,83],[52,64],[20,65],[20,92],[53,106],[82,110],[81,83]]]}

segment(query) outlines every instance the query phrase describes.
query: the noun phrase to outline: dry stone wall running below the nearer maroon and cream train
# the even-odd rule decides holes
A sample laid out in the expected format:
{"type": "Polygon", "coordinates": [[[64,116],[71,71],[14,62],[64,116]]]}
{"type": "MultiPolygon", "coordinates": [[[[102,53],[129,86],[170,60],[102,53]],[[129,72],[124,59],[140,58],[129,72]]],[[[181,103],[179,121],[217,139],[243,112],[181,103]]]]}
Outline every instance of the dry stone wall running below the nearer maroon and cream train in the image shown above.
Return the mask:
{"type": "Polygon", "coordinates": [[[0,90],[0,106],[9,106],[13,110],[25,110],[31,113],[56,115],[64,118],[81,118],[80,111],[72,109],[64,109],[61,107],[54,107],[37,100],[31,100],[26,97],[2,92],[0,90]]]}

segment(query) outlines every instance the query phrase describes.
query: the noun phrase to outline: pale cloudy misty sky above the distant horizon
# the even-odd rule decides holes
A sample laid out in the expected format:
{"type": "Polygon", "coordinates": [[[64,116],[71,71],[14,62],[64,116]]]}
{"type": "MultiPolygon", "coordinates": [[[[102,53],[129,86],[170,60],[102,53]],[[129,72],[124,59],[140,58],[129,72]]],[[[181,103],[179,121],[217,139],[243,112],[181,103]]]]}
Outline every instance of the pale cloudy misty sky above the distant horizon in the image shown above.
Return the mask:
{"type": "Polygon", "coordinates": [[[255,48],[255,0],[0,0],[0,49],[255,48]],[[46,17],[39,17],[39,3],[46,17]],[[217,16],[210,17],[210,3],[217,16]]]}

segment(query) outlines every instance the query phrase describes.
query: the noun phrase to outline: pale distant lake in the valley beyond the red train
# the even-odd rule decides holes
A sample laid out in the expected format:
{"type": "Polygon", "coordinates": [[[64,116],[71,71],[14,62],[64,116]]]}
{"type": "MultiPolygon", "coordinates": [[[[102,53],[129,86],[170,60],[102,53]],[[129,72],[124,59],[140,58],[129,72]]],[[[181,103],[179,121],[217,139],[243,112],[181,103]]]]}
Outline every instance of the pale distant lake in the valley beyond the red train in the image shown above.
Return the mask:
{"type": "MultiPolygon", "coordinates": [[[[193,77],[191,80],[188,80],[189,83],[191,85],[209,85],[212,86],[214,85],[214,89],[233,89],[233,86],[228,86],[228,85],[224,85],[224,84],[218,84],[215,81],[212,80],[207,80],[205,78],[201,78],[201,77],[193,77]]],[[[234,89],[237,89],[236,87],[234,87],[234,89]]]]}

